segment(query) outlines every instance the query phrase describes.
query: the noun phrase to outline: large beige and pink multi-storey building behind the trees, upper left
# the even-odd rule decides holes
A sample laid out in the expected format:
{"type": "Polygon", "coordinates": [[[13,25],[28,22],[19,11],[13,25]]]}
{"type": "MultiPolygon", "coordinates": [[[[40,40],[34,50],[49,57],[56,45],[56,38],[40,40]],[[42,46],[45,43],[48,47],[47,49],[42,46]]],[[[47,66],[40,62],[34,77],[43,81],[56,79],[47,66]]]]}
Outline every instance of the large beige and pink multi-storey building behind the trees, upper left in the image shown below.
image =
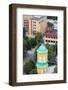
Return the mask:
{"type": "Polygon", "coordinates": [[[47,17],[41,16],[40,18],[30,15],[23,16],[23,25],[26,29],[27,36],[33,36],[37,32],[44,33],[47,27],[47,17]]]}

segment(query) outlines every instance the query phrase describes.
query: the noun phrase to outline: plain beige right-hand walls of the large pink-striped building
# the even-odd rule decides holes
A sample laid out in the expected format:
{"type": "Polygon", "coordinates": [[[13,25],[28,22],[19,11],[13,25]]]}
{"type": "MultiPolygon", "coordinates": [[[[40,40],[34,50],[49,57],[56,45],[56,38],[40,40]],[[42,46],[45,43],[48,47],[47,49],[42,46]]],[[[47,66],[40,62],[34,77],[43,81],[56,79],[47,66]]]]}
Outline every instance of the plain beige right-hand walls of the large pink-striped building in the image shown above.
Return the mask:
{"type": "Polygon", "coordinates": [[[47,28],[46,17],[40,20],[32,20],[32,30],[33,31],[44,33],[46,31],[46,28],[47,28]]]}

